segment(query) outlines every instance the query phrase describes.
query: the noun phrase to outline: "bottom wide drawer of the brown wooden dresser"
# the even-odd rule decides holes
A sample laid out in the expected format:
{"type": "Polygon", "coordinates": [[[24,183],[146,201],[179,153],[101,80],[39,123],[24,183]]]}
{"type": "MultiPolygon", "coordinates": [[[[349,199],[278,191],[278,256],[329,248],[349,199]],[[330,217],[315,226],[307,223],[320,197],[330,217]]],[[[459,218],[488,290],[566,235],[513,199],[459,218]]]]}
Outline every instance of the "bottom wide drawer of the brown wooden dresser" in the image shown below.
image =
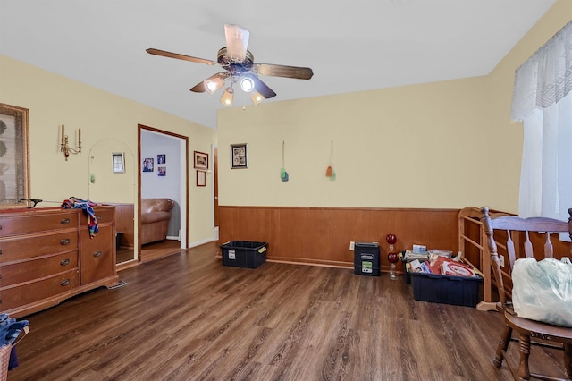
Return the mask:
{"type": "Polygon", "coordinates": [[[70,292],[77,286],[78,272],[72,270],[38,282],[5,287],[1,292],[0,310],[5,311],[38,302],[62,292],[70,292]]]}

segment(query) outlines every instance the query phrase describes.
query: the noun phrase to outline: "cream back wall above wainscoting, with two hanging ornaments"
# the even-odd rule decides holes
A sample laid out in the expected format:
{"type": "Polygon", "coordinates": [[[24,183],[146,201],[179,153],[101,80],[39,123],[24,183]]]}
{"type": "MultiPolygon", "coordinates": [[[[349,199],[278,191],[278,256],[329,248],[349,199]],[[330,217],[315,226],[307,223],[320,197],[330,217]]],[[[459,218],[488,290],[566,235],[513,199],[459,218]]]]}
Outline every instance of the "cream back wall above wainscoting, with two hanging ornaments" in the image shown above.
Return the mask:
{"type": "MultiPolygon", "coordinates": [[[[517,212],[522,129],[514,72],[572,17],[559,0],[490,75],[219,112],[221,205],[517,212]],[[334,139],[335,182],[324,173],[334,139]],[[282,140],[290,182],[281,182],[282,140]],[[232,143],[249,168],[230,169],[232,143]]],[[[280,89],[275,89],[280,97],[280,89]]]]}

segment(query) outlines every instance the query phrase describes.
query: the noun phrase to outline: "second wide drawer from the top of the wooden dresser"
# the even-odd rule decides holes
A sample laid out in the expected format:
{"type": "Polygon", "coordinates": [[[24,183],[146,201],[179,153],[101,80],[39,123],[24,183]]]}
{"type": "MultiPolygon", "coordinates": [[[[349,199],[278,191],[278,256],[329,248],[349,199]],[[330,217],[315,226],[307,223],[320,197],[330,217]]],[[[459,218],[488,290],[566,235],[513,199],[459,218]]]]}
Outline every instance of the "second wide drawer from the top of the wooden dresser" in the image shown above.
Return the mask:
{"type": "Polygon", "coordinates": [[[36,235],[0,241],[0,263],[78,250],[78,232],[36,235]]]}

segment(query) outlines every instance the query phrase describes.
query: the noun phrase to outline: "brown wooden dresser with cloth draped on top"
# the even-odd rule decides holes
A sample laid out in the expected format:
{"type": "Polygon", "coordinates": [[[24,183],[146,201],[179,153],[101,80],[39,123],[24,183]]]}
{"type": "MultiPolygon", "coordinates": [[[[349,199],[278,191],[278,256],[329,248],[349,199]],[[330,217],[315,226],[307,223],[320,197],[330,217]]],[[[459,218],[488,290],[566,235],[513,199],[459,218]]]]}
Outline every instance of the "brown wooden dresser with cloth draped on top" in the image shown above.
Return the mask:
{"type": "Polygon", "coordinates": [[[0,312],[14,318],[119,282],[115,207],[94,207],[99,233],[89,236],[83,209],[0,211],[0,312]]]}

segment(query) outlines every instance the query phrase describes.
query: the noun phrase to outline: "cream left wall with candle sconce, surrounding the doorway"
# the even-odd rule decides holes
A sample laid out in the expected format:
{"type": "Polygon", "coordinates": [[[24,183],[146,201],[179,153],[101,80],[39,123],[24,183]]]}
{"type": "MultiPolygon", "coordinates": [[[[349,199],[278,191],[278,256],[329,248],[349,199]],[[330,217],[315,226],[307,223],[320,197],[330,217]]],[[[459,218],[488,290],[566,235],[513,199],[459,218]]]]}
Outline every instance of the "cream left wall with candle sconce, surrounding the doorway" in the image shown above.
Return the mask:
{"type": "MultiPolygon", "coordinates": [[[[38,207],[57,206],[70,196],[88,198],[89,151],[94,146],[117,140],[117,144],[135,156],[126,162],[127,171],[137,174],[138,123],[156,129],[189,136],[189,163],[193,150],[209,152],[215,140],[214,130],[191,123],[172,114],[129,99],[118,97],[75,80],[38,69],[0,55],[0,103],[29,109],[29,163],[31,197],[55,201],[38,207]],[[83,152],[66,162],[59,151],[60,126],[70,140],[81,128],[83,152]]],[[[111,168],[109,169],[111,171],[111,168]]],[[[97,184],[109,176],[99,174],[97,184]]],[[[135,177],[135,179],[137,179],[135,177]]],[[[189,167],[189,246],[215,238],[212,218],[212,176],[207,186],[195,186],[195,170],[189,167]]],[[[137,181],[137,180],[135,180],[137,181]]],[[[135,202],[129,183],[108,184],[108,194],[99,194],[108,202],[135,202]]]]}

